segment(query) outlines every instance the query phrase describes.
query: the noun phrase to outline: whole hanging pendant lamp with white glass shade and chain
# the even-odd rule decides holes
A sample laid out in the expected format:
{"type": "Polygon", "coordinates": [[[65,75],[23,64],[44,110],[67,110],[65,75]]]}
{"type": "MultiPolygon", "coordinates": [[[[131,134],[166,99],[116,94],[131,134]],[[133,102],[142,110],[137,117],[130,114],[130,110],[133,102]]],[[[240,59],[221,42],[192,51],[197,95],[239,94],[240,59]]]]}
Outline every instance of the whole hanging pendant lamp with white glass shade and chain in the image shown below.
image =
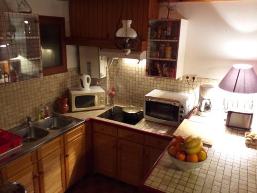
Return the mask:
{"type": "Polygon", "coordinates": [[[139,36],[137,32],[131,28],[132,20],[122,20],[122,28],[118,30],[127,1],[128,0],[124,0],[115,34],[115,45],[122,50],[124,55],[130,54],[131,49],[137,48],[139,44],[139,36]]]}

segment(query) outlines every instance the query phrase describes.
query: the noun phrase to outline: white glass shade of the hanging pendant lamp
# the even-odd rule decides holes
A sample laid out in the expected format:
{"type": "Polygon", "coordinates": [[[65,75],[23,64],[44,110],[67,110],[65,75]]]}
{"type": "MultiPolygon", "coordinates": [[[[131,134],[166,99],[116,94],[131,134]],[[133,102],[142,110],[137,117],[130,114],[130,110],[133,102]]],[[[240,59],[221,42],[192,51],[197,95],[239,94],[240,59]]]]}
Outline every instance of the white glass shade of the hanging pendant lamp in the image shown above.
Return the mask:
{"type": "Polygon", "coordinates": [[[118,38],[136,38],[137,32],[131,28],[132,20],[122,20],[122,28],[116,32],[118,38]]]}

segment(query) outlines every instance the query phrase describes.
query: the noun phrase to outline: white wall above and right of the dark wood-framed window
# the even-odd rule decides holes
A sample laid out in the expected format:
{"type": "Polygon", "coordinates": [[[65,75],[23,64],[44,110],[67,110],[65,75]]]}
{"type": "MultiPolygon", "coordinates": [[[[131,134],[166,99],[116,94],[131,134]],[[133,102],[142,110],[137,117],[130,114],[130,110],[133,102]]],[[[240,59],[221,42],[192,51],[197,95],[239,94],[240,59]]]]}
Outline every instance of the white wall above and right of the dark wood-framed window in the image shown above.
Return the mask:
{"type": "MultiPolygon", "coordinates": [[[[5,1],[9,10],[17,12],[16,0],[0,0],[5,1]]],[[[32,8],[32,13],[48,16],[65,17],[66,37],[69,36],[69,2],[57,0],[26,0],[32,8]]],[[[0,6],[4,6],[2,2],[0,6]]],[[[67,45],[67,67],[78,67],[76,46],[67,45]]]]}

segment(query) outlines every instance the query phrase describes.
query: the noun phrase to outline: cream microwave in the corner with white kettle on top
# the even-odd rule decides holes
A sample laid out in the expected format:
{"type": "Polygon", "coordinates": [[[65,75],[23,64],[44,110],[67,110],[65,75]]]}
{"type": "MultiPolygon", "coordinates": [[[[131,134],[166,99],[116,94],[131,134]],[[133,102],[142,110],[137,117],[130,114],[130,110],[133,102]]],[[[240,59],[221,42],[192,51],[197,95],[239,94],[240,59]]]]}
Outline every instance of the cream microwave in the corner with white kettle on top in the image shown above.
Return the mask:
{"type": "Polygon", "coordinates": [[[105,108],[105,92],[100,86],[90,86],[90,90],[69,88],[69,105],[72,112],[105,108]]]}

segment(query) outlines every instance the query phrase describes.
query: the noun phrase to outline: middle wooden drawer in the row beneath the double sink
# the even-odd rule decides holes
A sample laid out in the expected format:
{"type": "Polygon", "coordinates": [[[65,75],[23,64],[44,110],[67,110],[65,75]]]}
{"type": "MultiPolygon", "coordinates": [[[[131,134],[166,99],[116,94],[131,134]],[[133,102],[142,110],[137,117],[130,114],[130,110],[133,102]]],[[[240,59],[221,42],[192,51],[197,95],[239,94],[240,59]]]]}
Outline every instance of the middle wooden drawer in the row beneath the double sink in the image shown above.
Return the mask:
{"type": "Polygon", "coordinates": [[[38,155],[38,160],[42,160],[45,156],[58,150],[62,146],[63,146],[63,136],[53,139],[51,142],[47,143],[43,147],[36,150],[36,154],[38,155]]]}

